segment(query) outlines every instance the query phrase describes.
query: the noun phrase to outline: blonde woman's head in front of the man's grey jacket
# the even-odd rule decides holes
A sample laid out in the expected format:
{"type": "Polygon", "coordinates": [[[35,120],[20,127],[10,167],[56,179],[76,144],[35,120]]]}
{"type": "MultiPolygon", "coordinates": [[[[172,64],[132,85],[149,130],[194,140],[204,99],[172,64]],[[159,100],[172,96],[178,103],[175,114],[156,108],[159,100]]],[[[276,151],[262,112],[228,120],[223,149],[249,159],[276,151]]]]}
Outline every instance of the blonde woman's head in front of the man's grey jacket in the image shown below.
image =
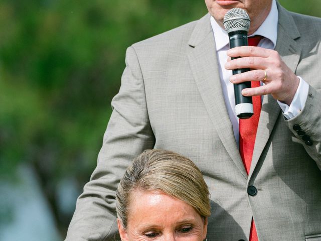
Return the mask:
{"type": "Polygon", "coordinates": [[[188,158],[146,150],[121,179],[116,210],[122,239],[156,238],[172,228],[180,237],[202,240],[210,215],[209,191],[201,171],[188,158]]]}

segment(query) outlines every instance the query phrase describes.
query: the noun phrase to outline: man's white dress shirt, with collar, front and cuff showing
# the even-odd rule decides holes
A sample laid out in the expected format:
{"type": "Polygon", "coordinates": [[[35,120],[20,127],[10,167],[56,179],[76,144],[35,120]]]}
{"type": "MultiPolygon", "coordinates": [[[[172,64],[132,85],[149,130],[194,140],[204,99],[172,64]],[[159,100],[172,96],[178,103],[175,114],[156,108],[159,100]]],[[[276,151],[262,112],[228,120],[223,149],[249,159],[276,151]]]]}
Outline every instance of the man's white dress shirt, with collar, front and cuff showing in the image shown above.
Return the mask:
{"type": "MultiPolygon", "coordinates": [[[[264,38],[258,44],[259,47],[266,49],[274,49],[276,45],[277,39],[277,24],[278,24],[278,10],[276,6],[275,0],[272,1],[272,7],[269,15],[265,19],[265,21],[261,24],[261,26],[254,32],[253,35],[261,35],[264,38]]],[[[231,119],[233,125],[234,136],[236,142],[239,140],[239,118],[236,116],[234,107],[235,107],[235,99],[234,99],[234,87],[230,82],[230,77],[232,76],[232,70],[227,70],[224,68],[225,63],[227,62],[227,50],[230,49],[229,46],[229,37],[226,31],[221,28],[218,23],[215,21],[213,17],[211,17],[211,26],[214,33],[214,39],[216,44],[216,54],[219,62],[219,71],[221,78],[221,85],[224,95],[225,104],[227,107],[227,111],[229,117],[231,119]]],[[[296,90],[295,96],[292,100],[290,106],[280,101],[277,101],[280,105],[283,115],[285,118],[290,119],[296,116],[301,109],[303,109],[309,85],[300,77],[299,86],[296,90]]],[[[261,83],[262,84],[262,83],[261,83]]],[[[262,96],[263,97],[263,96],[262,96]]]]}

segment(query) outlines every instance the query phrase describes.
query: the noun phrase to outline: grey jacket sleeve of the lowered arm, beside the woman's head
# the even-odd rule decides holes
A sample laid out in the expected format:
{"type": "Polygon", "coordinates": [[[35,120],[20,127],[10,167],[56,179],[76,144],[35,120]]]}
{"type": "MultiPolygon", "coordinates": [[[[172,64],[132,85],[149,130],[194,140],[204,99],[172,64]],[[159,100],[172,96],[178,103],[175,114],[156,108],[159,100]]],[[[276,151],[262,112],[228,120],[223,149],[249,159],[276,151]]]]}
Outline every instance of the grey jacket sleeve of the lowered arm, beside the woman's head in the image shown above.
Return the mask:
{"type": "Polygon", "coordinates": [[[67,241],[120,240],[115,190],[129,163],[145,149],[152,149],[143,76],[133,47],[126,51],[126,67],[113,112],[98,155],[97,167],[78,197],[68,228],[67,241]]]}

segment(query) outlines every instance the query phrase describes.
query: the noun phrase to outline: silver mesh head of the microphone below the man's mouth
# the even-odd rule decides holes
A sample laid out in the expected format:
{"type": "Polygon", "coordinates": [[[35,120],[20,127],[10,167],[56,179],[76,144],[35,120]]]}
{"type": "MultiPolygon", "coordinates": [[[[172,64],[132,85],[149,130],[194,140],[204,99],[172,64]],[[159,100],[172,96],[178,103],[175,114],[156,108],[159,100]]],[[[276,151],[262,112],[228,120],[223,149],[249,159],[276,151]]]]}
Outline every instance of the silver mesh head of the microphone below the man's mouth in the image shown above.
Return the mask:
{"type": "Polygon", "coordinates": [[[244,9],[234,8],[230,9],[224,16],[224,28],[226,32],[244,30],[249,31],[250,17],[244,9]]]}

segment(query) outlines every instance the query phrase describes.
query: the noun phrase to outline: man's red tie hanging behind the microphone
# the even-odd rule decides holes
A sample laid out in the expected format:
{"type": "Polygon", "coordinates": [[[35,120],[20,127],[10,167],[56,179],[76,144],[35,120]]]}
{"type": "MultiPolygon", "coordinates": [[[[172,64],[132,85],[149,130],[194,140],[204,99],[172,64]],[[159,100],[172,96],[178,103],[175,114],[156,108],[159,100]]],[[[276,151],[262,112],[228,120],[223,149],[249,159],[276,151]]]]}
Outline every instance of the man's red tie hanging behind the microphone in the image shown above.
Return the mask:
{"type": "MultiPolygon", "coordinates": [[[[248,38],[249,46],[257,46],[262,36],[254,36],[248,38]]],[[[260,86],[260,81],[251,81],[251,87],[260,86]]],[[[248,119],[239,119],[239,147],[241,158],[245,167],[247,174],[249,174],[253,149],[256,137],[257,126],[259,123],[260,112],[261,112],[261,96],[253,96],[253,112],[254,114],[251,118],[248,119]]],[[[249,241],[257,241],[257,233],[255,224],[252,219],[251,230],[250,230],[250,238],[249,241]]]]}

